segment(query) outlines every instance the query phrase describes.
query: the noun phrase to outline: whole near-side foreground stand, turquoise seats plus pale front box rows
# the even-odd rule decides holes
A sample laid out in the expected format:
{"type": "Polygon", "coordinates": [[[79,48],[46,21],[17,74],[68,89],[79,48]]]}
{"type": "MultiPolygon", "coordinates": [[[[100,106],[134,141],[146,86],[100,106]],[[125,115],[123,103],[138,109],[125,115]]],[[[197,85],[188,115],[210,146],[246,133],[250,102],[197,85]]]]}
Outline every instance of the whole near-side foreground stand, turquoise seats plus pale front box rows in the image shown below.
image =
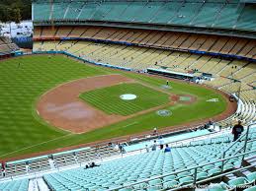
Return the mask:
{"type": "Polygon", "coordinates": [[[36,184],[36,190],[175,190],[195,182],[206,185],[214,180],[215,183],[210,184],[212,189],[228,190],[237,186],[253,189],[255,135],[255,128],[249,126],[241,141],[230,144],[232,136],[222,131],[198,136],[197,141],[193,138],[171,142],[171,153],[139,149],[122,154],[108,146],[97,151],[84,148],[17,160],[6,163],[6,181],[0,183],[0,188],[33,190],[36,184]],[[86,168],[89,161],[96,161],[100,166],[86,168]],[[44,171],[43,178],[39,171],[44,171]],[[40,178],[31,178],[35,172],[40,178]],[[9,181],[9,177],[19,179],[9,181]]]}

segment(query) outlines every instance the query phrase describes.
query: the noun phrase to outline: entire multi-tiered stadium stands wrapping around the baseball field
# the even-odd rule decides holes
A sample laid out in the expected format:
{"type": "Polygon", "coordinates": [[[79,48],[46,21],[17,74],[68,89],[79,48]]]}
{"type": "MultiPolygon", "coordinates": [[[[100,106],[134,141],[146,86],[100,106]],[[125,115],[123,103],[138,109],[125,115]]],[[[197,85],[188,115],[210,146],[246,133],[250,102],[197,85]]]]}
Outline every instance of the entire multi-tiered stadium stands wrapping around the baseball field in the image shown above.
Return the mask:
{"type": "MultiPolygon", "coordinates": [[[[60,53],[135,73],[154,70],[185,82],[190,76],[234,98],[237,109],[207,128],[158,130],[7,159],[0,164],[0,190],[256,190],[254,2],[34,0],[32,11],[35,54],[60,53]],[[238,120],[245,131],[233,141],[238,120]],[[159,149],[161,139],[170,153],[159,149]]],[[[0,57],[16,50],[0,38],[0,57]]]]}

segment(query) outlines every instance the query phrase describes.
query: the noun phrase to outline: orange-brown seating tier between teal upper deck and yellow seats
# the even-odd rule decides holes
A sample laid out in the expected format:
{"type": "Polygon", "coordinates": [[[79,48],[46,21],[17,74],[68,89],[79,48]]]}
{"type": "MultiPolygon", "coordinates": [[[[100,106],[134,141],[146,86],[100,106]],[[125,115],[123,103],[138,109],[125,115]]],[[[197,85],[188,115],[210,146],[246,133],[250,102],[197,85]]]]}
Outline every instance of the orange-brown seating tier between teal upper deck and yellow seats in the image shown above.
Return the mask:
{"type": "Polygon", "coordinates": [[[205,52],[256,58],[256,40],[231,36],[204,35],[186,32],[156,32],[99,27],[36,27],[34,39],[79,37],[89,39],[126,41],[152,47],[198,50],[205,52]]]}

